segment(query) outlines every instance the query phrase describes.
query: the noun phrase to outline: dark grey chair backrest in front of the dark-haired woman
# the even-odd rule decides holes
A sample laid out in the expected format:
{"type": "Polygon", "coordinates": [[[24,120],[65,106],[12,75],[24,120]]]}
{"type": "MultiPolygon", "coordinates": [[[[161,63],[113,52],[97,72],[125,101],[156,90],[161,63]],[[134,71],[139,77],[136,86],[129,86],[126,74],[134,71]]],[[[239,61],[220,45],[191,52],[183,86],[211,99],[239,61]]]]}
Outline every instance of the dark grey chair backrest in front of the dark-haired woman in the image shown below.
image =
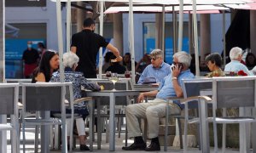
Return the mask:
{"type": "Polygon", "coordinates": [[[24,111],[61,111],[64,108],[65,83],[23,83],[24,111]]]}

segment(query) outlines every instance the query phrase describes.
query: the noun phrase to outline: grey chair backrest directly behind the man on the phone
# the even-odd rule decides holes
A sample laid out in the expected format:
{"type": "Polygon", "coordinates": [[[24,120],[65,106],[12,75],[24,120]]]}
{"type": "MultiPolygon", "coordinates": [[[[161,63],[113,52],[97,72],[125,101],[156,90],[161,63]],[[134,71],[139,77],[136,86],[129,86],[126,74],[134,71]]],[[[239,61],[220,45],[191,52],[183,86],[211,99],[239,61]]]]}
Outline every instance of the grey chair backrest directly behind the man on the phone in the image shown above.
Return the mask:
{"type": "MultiPolygon", "coordinates": [[[[182,81],[183,97],[199,96],[203,89],[212,89],[212,78],[184,79],[182,81]]],[[[197,108],[197,102],[189,103],[189,108],[197,108]]]]}

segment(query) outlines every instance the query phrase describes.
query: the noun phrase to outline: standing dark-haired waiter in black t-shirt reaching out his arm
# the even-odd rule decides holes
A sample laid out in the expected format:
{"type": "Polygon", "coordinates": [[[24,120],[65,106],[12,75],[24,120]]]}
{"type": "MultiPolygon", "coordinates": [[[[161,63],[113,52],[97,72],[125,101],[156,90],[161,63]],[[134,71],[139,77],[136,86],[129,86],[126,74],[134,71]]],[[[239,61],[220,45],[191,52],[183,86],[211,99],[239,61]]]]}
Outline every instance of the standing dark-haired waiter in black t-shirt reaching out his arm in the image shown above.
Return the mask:
{"type": "Polygon", "coordinates": [[[84,20],[83,31],[76,33],[72,37],[71,51],[79,56],[79,65],[76,71],[82,71],[86,78],[96,78],[96,55],[99,48],[108,48],[119,62],[123,58],[119,55],[119,50],[112,44],[106,42],[101,35],[94,33],[95,22],[91,18],[84,20]]]}

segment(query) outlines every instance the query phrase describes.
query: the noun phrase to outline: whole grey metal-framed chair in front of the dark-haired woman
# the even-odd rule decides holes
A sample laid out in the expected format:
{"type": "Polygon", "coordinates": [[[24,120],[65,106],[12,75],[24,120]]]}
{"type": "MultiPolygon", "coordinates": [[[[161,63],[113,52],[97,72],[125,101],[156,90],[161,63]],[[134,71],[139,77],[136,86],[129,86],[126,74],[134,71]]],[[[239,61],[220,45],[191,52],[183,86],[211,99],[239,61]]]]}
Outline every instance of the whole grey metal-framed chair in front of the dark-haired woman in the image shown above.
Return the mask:
{"type": "MultiPolygon", "coordinates": [[[[22,132],[23,132],[23,152],[25,153],[26,125],[49,126],[61,124],[62,131],[62,147],[61,152],[67,152],[67,130],[66,130],[66,110],[65,110],[65,86],[67,83],[60,82],[38,82],[38,83],[23,83],[22,86],[22,132]],[[26,119],[26,112],[39,111],[44,117],[37,119],[26,119]],[[49,111],[61,111],[61,120],[54,120],[47,116],[49,111]]],[[[46,133],[44,133],[46,134],[46,133]]],[[[41,134],[41,142],[42,142],[41,134]]],[[[48,150],[47,147],[44,148],[48,150]]]]}

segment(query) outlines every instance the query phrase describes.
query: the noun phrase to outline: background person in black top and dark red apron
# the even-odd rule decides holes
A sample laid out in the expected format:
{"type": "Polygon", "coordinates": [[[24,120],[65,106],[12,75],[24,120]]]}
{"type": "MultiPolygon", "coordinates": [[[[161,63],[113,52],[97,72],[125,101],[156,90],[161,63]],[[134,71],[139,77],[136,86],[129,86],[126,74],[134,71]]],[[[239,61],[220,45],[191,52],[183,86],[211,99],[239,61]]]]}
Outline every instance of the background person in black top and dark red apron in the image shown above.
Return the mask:
{"type": "Polygon", "coordinates": [[[23,52],[22,60],[24,61],[24,77],[31,78],[32,72],[38,66],[39,54],[38,51],[32,48],[32,42],[27,42],[27,48],[23,52]]]}

